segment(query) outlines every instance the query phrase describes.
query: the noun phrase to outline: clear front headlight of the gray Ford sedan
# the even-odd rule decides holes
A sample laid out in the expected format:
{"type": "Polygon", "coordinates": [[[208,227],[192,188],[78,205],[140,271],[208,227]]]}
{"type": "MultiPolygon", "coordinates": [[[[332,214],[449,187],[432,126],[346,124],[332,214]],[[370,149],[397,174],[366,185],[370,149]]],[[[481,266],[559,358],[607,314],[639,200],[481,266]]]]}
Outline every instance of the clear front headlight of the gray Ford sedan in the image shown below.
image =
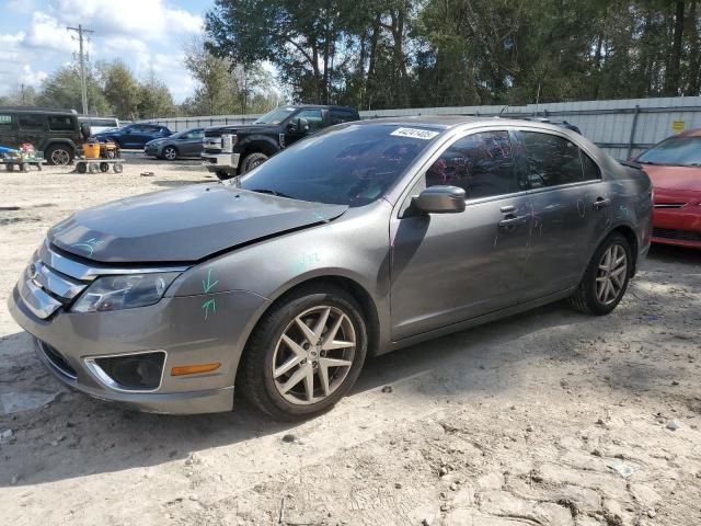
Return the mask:
{"type": "Polygon", "coordinates": [[[134,309],[158,302],[180,272],[104,276],[95,279],[78,298],[73,312],[134,309]]]}

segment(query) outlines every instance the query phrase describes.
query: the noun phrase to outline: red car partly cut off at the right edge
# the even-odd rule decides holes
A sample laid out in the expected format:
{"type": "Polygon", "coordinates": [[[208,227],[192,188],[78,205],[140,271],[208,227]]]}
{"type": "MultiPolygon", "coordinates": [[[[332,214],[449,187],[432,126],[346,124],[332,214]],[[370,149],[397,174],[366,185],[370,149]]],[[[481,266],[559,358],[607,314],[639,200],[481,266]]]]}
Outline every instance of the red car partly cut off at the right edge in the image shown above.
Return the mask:
{"type": "Polygon", "coordinates": [[[701,128],[668,137],[635,161],[655,188],[653,242],[701,249],[701,128]]]}

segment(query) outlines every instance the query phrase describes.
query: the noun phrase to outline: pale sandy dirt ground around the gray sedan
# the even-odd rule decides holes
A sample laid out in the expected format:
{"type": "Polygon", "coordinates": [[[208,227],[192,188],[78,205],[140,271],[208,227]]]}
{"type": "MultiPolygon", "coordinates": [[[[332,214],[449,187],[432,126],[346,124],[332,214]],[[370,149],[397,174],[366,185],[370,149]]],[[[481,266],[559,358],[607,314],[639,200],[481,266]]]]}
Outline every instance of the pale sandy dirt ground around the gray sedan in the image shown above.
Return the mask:
{"type": "Polygon", "coordinates": [[[62,388],[4,301],[73,210],[211,178],[68,172],[0,172],[0,524],[701,524],[701,252],[654,249],[605,318],[556,304],[372,359],[302,424],[141,414],[62,388]]]}

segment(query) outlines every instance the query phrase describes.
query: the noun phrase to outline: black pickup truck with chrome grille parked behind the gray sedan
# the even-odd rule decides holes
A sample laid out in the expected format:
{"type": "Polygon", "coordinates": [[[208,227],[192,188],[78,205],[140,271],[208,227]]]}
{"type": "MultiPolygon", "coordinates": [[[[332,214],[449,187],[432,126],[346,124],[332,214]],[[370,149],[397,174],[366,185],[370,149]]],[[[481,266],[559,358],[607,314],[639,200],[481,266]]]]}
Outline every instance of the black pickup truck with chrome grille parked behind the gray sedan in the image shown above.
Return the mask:
{"type": "Polygon", "coordinates": [[[321,128],[359,119],[358,111],[348,106],[281,106],[250,125],[207,128],[202,158],[207,170],[219,179],[229,179],[321,128]]]}

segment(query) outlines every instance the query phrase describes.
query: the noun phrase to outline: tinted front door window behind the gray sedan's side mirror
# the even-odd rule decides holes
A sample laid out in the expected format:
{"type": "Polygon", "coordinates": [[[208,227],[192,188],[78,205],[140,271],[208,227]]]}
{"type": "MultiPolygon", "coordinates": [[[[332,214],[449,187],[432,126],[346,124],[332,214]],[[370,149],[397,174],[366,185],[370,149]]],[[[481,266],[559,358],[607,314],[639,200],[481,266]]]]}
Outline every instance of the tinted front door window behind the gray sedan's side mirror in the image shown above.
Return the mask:
{"type": "Polygon", "coordinates": [[[426,186],[464,188],[468,199],[518,192],[508,132],[484,132],[456,140],[426,171],[426,186]]]}

